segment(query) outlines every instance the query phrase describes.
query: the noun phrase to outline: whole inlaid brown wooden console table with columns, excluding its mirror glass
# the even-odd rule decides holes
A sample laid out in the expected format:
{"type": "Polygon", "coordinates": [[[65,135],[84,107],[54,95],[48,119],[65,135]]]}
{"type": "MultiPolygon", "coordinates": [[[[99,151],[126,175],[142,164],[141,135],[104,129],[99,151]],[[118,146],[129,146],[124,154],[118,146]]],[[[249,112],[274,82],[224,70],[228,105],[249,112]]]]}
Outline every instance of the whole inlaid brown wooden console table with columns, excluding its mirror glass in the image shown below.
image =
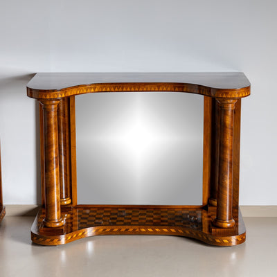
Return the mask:
{"type": "Polygon", "coordinates": [[[37,244],[91,235],[181,235],[208,244],[245,241],[238,206],[243,73],[37,73],[27,94],[40,105],[42,208],[37,244]],[[176,91],[204,96],[203,201],[200,206],[78,205],[75,96],[116,91],[176,91]]]}

